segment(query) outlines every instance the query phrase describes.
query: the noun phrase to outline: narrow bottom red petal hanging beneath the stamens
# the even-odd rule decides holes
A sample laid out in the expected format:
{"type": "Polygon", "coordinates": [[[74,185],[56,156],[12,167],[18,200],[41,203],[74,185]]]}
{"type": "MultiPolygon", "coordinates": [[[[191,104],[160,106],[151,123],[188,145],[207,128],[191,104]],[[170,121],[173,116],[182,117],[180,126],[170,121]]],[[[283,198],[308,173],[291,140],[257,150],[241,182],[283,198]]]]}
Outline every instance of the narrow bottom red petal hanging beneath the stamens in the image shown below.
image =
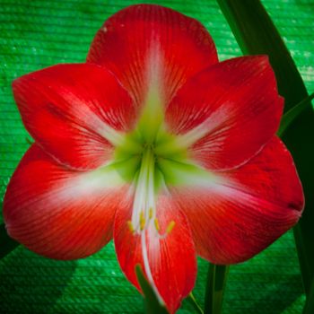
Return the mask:
{"type": "MultiPolygon", "coordinates": [[[[183,298],[194,287],[196,280],[196,252],[188,222],[178,208],[170,202],[169,196],[160,196],[157,204],[157,217],[161,233],[165,232],[171,221],[173,230],[164,239],[156,236],[153,226],[146,231],[145,251],[148,256],[154,287],[161,295],[168,310],[179,308],[183,298]]],[[[118,262],[127,279],[140,290],[135,275],[135,266],[144,267],[141,235],[132,233],[127,221],[131,219],[130,210],[117,211],[114,240],[118,262]]],[[[147,273],[145,273],[148,277],[147,273]]]]}

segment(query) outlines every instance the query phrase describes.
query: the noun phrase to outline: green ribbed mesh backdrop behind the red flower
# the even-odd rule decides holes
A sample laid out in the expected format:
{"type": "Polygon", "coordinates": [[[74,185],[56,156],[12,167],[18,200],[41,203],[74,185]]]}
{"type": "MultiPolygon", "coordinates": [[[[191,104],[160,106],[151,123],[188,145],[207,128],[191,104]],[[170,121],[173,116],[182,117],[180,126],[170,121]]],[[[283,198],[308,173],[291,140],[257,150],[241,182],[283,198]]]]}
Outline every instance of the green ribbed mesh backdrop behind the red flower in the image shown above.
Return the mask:
{"type": "MultiPolygon", "coordinates": [[[[0,195],[29,146],[14,105],[15,77],[57,63],[83,62],[101,23],[135,1],[0,0],[0,195]]],[[[156,1],[195,17],[214,37],[221,59],[240,55],[214,0],[156,1]]],[[[314,90],[314,2],[265,0],[309,91],[314,90]]],[[[0,215],[0,222],[3,218],[0,215]]],[[[203,305],[207,264],[195,289],[203,305]]],[[[231,267],[224,313],[301,313],[301,275],[292,232],[249,262],[231,267]]],[[[1,313],[141,313],[143,301],[122,275],[112,243],[98,254],[59,262],[19,247],[0,261],[1,313]]],[[[192,313],[187,301],[179,313],[192,313]]]]}

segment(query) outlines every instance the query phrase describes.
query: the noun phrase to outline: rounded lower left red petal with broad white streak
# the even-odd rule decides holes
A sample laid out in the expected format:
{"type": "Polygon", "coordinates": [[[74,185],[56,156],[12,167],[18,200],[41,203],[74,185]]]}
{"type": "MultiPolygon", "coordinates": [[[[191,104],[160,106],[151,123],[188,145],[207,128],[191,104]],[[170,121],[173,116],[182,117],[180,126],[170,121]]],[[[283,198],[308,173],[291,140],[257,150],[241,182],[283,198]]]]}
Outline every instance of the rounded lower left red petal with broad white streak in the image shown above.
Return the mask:
{"type": "Polygon", "coordinates": [[[32,145],[4,196],[4,221],[13,239],[52,258],[87,257],[112,237],[124,188],[103,187],[93,172],[66,170],[32,145]]]}

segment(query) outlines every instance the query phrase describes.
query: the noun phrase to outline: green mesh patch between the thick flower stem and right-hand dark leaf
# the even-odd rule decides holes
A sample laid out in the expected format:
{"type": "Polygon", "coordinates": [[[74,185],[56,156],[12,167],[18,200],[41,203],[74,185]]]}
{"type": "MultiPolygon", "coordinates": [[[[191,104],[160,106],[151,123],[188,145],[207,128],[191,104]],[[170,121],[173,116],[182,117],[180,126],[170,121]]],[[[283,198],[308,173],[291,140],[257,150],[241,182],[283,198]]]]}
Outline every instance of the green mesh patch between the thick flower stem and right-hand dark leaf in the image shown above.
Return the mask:
{"type": "Polygon", "coordinates": [[[301,313],[305,301],[293,233],[245,263],[231,266],[223,313],[301,313]]]}

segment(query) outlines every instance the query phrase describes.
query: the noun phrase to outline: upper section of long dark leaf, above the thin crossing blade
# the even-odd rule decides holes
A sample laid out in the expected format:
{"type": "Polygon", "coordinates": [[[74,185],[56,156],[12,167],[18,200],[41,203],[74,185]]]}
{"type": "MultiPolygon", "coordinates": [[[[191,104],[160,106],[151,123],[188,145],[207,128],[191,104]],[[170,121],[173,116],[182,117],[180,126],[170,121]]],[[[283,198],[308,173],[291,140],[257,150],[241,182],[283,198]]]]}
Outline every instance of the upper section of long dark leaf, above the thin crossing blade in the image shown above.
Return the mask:
{"type": "Polygon", "coordinates": [[[259,0],[217,0],[244,55],[268,55],[278,90],[285,98],[284,111],[308,93],[289,50],[259,0]]]}

